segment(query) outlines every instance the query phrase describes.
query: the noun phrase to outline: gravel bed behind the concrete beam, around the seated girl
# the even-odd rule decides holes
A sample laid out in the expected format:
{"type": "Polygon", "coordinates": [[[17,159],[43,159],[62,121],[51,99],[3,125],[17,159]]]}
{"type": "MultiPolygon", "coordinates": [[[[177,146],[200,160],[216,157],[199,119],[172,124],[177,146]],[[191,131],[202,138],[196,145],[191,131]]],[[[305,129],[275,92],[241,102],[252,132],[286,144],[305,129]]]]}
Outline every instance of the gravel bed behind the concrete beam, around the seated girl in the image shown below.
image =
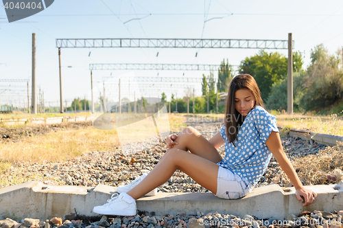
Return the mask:
{"type": "MultiPolygon", "coordinates": [[[[206,139],[213,137],[220,129],[220,123],[189,124],[204,135],[206,139]]],[[[281,139],[283,149],[289,159],[316,154],[325,146],[308,140],[285,137],[281,139]]],[[[99,183],[117,187],[127,184],[140,176],[145,170],[152,170],[166,151],[165,143],[158,144],[142,152],[125,156],[115,148],[114,151],[92,151],[73,160],[61,163],[30,164],[20,163],[12,166],[8,173],[7,185],[16,184],[19,179],[43,181],[51,185],[84,185],[95,186],[99,183]]],[[[224,146],[218,149],[224,157],[224,146]]],[[[288,186],[280,177],[283,172],[272,157],[268,169],[255,187],[277,183],[281,187],[288,186]]],[[[291,186],[291,185],[289,185],[291,186]]],[[[171,179],[158,187],[161,192],[208,192],[193,181],[187,174],[176,171],[171,179]]]]}

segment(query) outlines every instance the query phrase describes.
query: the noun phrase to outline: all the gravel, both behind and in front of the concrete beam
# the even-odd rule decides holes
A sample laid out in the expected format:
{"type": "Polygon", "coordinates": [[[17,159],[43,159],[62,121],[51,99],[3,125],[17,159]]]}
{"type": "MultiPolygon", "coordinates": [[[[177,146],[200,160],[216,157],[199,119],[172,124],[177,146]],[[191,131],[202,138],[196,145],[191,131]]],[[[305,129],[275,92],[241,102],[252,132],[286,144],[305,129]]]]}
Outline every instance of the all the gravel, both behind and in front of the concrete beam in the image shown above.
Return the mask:
{"type": "MultiPolygon", "coordinates": [[[[220,123],[188,124],[200,131],[210,139],[220,129],[220,123]]],[[[82,125],[78,127],[84,127],[82,125]]],[[[42,126],[42,128],[46,128],[42,126]]],[[[48,127],[49,128],[49,127],[48,127]]],[[[60,127],[61,128],[61,127],[60,127]]],[[[57,130],[57,129],[56,129],[57,130]]],[[[10,138],[14,139],[15,136],[10,138]]],[[[300,138],[285,137],[281,139],[283,149],[289,159],[316,154],[325,146],[315,142],[304,141],[300,138]]],[[[124,156],[119,148],[113,151],[93,151],[81,157],[61,163],[21,163],[15,164],[7,177],[10,184],[16,184],[19,179],[31,179],[43,181],[51,185],[84,185],[94,187],[99,183],[114,186],[129,183],[144,170],[152,170],[166,151],[165,143],[153,146],[134,155],[124,156]]],[[[218,150],[224,157],[224,146],[218,150]]],[[[274,157],[270,161],[268,169],[256,187],[277,183],[287,186],[285,180],[279,178],[282,172],[274,157]]],[[[8,186],[6,185],[6,186],[8,186]]],[[[5,185],[1,187],[6,187],[5,185]]],[[[189,176],[176,171],[171,179],[164,185],[158,187],[161,192],[208,192],[189,176]]],[[[224,227],[224,228],[285,228],[285,227],[316,227],[316,228],[342,228],[341,225],[328,225],[333,218],[342,220],[343,211],[339,212],[302,212],[301,214],[290,214],[285,221],[273,218],[255,218],[246,215],[239,218],[230,214],[219,214],[217,212],[204,214],[198,212],[194,215],[178,214],[176,216],[154,216],[153,214],[142,214],[137,216],[103,216],[88,218],[77,216],[75,218],[49,218],[49,220],[36,220],[25,218],[21,221],[0,220],[1,228],[198,228],[198,227],[224,227]],[[101,219],[100,219],[101,218],[101,219]],[[274,225],[273,225],[274,223],[274,225]]]]}

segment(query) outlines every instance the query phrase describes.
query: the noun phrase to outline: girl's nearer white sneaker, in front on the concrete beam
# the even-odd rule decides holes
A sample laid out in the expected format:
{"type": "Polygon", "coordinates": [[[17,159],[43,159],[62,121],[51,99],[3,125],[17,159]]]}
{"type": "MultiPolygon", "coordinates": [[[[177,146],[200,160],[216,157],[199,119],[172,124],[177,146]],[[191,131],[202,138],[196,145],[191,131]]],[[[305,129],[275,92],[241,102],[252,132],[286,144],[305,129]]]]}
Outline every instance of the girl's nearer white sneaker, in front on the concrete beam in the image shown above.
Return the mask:
{"type": "Polygon", "coordinates": [[[115,216],[135,216],[137,214],[137,205],[134,198],[126,194],[113,194],[107,203],[93,208],[97,214],[115,215],[115,216]]]}

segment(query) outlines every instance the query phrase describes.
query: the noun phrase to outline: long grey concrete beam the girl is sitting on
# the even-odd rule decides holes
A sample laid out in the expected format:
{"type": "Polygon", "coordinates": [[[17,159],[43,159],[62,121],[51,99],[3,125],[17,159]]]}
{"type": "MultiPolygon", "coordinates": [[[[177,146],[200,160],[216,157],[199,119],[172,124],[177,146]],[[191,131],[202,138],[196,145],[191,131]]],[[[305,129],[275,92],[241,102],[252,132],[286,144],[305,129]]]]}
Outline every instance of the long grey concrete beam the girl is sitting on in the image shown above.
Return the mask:
{"type": "MultiPolygon", "coordinates": [[[[317,192],[316,201],[303,207],[296,199],[294,188],[279,185],[258,187],[237,200],[224,200],[212,193],[163,193],[143,197],[137,201],[137,209],[156,215],[197,214],[197,212],[220,212],[243,217],[246,214],[259,219],[274,217],[284,220],[289,214],[303,211],[343,209],[343,182],[336,185],[307,186],[317,192]]],[[[0,217],[39,218],[54,216],[66,218],[75,213],[99,216],[92,212],[96,205],[103,205],[115,193],[116,187],[97,185],[80,187],[45,185],[29,181],[0,189],[0,217]]],[[[70,218],[70,217],[69,217],[70,218]]]]}

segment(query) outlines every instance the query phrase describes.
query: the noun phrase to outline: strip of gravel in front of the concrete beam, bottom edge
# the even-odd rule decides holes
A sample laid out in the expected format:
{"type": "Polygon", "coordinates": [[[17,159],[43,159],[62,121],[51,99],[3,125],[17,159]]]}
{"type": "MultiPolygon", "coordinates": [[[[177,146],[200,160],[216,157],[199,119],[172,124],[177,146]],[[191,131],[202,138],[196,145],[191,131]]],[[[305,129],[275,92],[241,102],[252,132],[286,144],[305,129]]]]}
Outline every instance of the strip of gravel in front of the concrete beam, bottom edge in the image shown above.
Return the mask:
{"type": "Polygon", "coordinates": [[[289,227],[316,227],[316,228],[340,228],[342,227],[343,210],[331,212],[316,211],[301,212],[298,215],[289,214],[287,220],[275,220],[274,218],[256,218],[245,215],[239,218],[230,214],[217,212],[195,215],[178,214],[176,216],[154,216],[151,214],[137,214],[137,216],[102,216],[99,218],[88,218],[78,216],[70,220],[62,218],[51,218],[50,220],[39,220],[25,218],[15,221],[10,218],[0,220],[3,228],[289,228],[289,227]]]}

